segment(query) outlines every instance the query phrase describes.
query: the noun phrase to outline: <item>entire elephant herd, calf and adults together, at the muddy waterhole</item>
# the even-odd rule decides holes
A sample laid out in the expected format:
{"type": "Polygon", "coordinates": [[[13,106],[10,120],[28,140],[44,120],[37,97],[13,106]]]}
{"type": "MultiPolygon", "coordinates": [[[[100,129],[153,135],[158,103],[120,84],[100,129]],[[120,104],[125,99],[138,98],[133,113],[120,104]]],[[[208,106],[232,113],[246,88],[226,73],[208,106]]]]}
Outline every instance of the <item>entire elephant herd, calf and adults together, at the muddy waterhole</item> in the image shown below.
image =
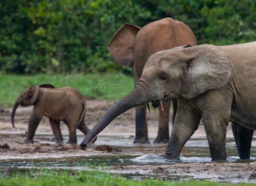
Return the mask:
{"type": "Polygon", "coordinates": [[[69,129],[67,143],[77,143],[78,128],[86,135],[80,144],[85,148],[118,115],[136,107],[133,143],[149,143],[146,110],[151,102],[159,110],[154,143],[167,143],[165,158],[179,158],[182,147],[203,120],[212,160],[226,159],[226,129],[230,121],[240,159],[250,159],[256,129],[256,42],[197,45],[188,26],[164,18],[142,28],[124,24],[108,44],[108,50],[117,63],[134,69],[135,88],[89,130],[85,126],[85,101],[78,90],[56,89],[49,84],[28,87],[12,111],[14,127],[18,105],[34,105],[25,141],[33,142],[36,128],[45,115],[57,143],[63,142],[60,121],[64,121],[69,129]]]}

